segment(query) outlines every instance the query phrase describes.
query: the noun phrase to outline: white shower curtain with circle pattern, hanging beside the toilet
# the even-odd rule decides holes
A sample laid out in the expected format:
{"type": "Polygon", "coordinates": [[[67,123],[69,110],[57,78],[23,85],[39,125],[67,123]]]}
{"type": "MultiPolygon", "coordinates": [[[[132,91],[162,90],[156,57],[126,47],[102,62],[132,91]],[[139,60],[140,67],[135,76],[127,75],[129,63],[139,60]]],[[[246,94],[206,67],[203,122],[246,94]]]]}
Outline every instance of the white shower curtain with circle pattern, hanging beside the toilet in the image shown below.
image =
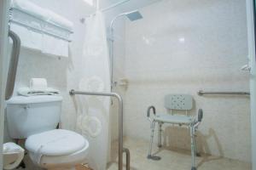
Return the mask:
{"type": "MultiPolygon", "coordinates": [[[[83,76],[79,89],[110,92],[108,42],[103,14],[96,12],[86,20],[83,76]]],[[[106,170],[108,161],[109,97],[81,96],[77,127],[89,139],[88,161],[94,170],[106,170]]]]}

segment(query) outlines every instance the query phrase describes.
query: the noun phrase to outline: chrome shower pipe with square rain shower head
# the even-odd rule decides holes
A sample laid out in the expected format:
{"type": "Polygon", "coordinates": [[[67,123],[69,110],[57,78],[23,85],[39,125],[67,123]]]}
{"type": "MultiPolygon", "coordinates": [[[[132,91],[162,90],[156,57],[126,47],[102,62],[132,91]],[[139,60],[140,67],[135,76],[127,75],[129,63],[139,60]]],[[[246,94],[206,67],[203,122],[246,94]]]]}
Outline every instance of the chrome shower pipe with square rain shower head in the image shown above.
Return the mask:
{"type": "Polygon", "coordinates": [[[122,13],[116,15],[113,20],[111,20],[110,23],[110,44],[109,44],[109,56],[110,56],[110,75],[111,75],[111,91],[113,92],[113,87],[115,86],[115,83],[113,82],[113,26],[115,24],[115,21],[121,17],[126,16],[129,20],[135,21],[135,20],[141,20],[143,19],[143,15],[138,10],[133,10],[130,12],[122,13]]]}

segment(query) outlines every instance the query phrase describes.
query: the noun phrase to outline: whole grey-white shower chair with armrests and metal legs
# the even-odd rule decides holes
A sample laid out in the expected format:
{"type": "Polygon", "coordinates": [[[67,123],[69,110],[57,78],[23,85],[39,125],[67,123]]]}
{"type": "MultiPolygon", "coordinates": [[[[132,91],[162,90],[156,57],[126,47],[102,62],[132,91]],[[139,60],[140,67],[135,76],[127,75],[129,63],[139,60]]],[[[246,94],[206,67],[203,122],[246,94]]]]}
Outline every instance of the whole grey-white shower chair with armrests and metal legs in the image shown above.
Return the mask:
{"type": "Polygon", "coordinates": [[[195,141],[195,132],[198,129],[198,126],[201,123],[203,117],[203,111],[199,109],[198,115],[196,116],[188,116],[188,111],[193,108],[193,98],[189,94],[168,94],[165,97],[165,107],[167,110],[171,110],[171,114],[156,114],[155,108],[153,105],[148,107],[147,116],[150,121],[151,128],[151,136],[150,136],[150,144],[148,150],[148,159],[152,160],[160,160],[160,156],[152,156],[152,144],[154,139],[154,127],[157,122],[159,125],[159,133],[158,133],[158,147],[162,146],[161,144],[161,132],[162,125],[164,123],[170,123],[179,126],[189,127],[190,139],[191,139],[191,159],[192,159],[192,167],[191,170],[196,170],[195,167],[195,156],[199,156],[196,148],[195,141]],[[150,116],[150,111],[153,110],[154,115],[150,116]],[[175,114],[174,111],[185,111],[186,115],[175,114]]]}

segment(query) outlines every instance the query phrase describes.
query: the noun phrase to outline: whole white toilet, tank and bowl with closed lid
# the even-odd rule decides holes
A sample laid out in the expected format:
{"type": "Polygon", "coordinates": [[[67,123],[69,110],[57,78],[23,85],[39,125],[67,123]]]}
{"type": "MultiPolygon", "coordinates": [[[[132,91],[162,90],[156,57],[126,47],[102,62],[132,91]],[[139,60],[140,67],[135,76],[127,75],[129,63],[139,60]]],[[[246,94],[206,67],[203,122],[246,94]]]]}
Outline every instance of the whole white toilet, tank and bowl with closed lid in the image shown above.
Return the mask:
{"type": "Polygon", "coordinates": [[[55,129],[60,122],[61,96],[16,96],[7,101],[9,135],[26,139],[33,163],[49,170],[75,169],[84,163],[89,148],[79,133],[55,129]]]}

